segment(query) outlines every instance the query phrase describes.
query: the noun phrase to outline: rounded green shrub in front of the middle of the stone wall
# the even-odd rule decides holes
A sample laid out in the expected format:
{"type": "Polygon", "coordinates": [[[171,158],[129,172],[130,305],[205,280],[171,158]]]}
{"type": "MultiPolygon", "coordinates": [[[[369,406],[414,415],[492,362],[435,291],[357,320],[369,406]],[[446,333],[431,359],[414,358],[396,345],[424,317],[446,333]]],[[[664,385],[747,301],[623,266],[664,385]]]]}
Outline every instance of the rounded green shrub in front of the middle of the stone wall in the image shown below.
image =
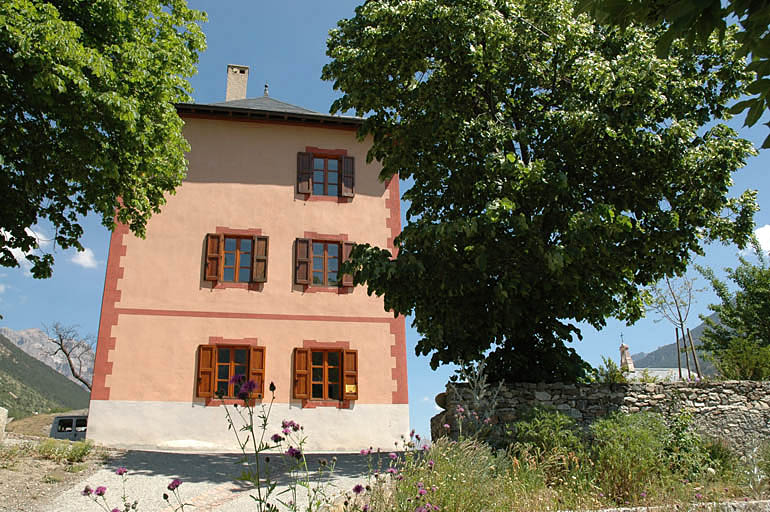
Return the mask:
{"type": "Polygon", "coordinates": [[[661,457],[667,428],[654,413],[616,413],[591,427],[596,477],[603,492],[622,502],[646,493],[667,472],[661,457]]]}

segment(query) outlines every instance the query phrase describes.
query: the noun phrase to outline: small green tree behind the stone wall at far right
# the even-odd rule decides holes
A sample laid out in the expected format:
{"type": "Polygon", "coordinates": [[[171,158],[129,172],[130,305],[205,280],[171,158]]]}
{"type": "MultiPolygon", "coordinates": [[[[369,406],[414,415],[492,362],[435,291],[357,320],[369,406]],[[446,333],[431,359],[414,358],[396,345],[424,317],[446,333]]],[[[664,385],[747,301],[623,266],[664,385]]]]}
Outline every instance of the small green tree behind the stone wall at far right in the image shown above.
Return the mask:
{"type": "Polygon", "coordinates": [[[713,270],[698,267],[722,301],[709,305],[718,322],[701,315],[706,324],[701,343],[713,355],[720,374],[729,379],[770,377],[770,267],[756,240],[753,246],[756,264],[741,256],[737,267],[725,269],[737,287],[734,292],[713,270]]]}

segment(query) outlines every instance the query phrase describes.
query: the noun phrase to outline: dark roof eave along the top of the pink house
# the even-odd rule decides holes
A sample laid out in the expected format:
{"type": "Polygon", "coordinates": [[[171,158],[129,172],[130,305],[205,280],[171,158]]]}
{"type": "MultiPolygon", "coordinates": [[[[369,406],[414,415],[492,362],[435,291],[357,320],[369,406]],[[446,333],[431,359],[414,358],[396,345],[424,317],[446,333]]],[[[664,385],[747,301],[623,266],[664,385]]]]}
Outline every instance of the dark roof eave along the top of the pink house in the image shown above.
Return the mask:
{"type": "Polygon", "coordinates": [[[223,105],[202,105],[198,103],[175,103],[179,115],[209,115],[233,120],[254,121],[283,121],[304,124],[334,125],[359,127],[364,120],[360,117],[329,116],[324,114],[305,114],[294,112],[277,112],[273,110],[261,110],[255,108],[239,108],[223,105]]]}

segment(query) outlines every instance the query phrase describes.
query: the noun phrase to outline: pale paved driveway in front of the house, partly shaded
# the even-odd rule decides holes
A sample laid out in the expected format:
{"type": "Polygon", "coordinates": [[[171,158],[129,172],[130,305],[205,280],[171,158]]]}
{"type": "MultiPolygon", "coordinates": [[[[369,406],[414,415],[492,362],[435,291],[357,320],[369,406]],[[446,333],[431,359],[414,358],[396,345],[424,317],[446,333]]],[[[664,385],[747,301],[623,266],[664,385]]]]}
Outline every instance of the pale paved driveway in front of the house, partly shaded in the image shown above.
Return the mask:
{"type": "MultiPolygon", "coordinates": [[[[335,454],[308,455],[310,469],[319,467],[319,460],[331,460],[335,454]]],[[[271,472],[276,475],[278,487],[275,492],[288,489],[289,475],[285,457],[271,455],[271,472]]],[[[336,454],[337,464],[327,484],[327,494],[332,496],[349,491],[357,483],[366,483],[369,474],[368,458],[358,454],[336,454]]],[[[122,510],[121,478],[115,474],[119,467],[128,468],[126,494],[131,500],[139,500],[141,512],[170,511],[162,495],[168,493],[166,486],[172,479],[182,480],[179,487],[186,503],[194,505],[191,512],[215,510],[217,512],[255,511],[254,500],[249,496],[256,494],[254,488],[236,481],[241,472],[240,455],[236,454],[191,454],[178,452],[128,451],[125,455],[109,461],[105,469],[83,479],[77,485],[60,494],[54,501],[38,507],[38,511],[55,512],[97,512],[100,508],[90,499],[81,495],[86,485],[96,488],[107,487],[105,497],[110,509],[122,510]]],[[[382,462],[387,467],[386,462],[382,462]]],[[[300,488],[300,490],[304,490],[300,488]]],[[[298,493],[300,491],[298,490],[298,493]]],[[[170,494],[170,493],[169,493],[170,494]]],[[[280,496],[284,501],[290,494],[280,496]]],[[[297,502],[307,503],[305,493],[300,493],[297,502]],[[304,499],[302,499],[304,498],[304,499]]],[[[304,510],[304,507],[302,507],[304,510]]],[[[32,511],[30,511],[32,512],[32,511]]]]}

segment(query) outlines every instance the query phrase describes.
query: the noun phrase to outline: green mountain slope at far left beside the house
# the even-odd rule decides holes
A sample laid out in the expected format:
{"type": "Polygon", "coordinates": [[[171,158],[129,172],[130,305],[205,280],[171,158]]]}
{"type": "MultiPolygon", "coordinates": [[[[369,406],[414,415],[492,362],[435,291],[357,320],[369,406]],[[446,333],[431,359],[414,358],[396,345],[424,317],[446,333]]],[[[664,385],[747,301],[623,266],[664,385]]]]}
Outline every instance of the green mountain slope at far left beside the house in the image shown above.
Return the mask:
{"type": "Polygon", "coordinates": [[[83,409],[88,400],[88,391],[0,335],[0,407],[9,416],[83,409]]]}

